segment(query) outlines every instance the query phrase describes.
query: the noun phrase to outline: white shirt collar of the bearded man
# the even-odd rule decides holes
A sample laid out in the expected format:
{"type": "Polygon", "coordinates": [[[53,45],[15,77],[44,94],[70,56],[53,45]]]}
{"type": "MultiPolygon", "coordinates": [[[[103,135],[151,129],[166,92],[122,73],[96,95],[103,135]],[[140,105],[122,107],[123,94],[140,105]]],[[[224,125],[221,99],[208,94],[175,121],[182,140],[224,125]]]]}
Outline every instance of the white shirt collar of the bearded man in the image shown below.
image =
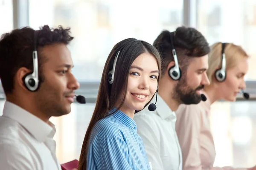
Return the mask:
{"type": "MultiPolygon", "coordinates": [[[[156,101],[156,95],[154,98],[151,100],[156,101]]],[[[163,98],[160,95],[157,95],[157,103],[156,103],[157,109],[156,112],[157,114],[162,118],[166,120],[172,120],[176,121],[176,114],[174,111],[172,111],[169,106],[166,104],[166,102],[163,100],[163,98]]]]}

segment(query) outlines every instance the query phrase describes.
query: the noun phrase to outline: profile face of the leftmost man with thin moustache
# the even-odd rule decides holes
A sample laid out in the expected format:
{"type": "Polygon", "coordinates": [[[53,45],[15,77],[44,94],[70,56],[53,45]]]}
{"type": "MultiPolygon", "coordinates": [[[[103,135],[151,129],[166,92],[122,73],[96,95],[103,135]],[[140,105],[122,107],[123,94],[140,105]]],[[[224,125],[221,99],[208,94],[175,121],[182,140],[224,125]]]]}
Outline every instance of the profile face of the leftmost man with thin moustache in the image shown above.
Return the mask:
{"type": "Polygon", "coordinates": [[[47,45],[40,48],[40,57],[45,57],[42,65],[40,88],[35,92],[38,109],[48,116],[61,116],[71,111],[74,90],[79,82],[71,72],[73,61],[65,44],[47,45]]]}

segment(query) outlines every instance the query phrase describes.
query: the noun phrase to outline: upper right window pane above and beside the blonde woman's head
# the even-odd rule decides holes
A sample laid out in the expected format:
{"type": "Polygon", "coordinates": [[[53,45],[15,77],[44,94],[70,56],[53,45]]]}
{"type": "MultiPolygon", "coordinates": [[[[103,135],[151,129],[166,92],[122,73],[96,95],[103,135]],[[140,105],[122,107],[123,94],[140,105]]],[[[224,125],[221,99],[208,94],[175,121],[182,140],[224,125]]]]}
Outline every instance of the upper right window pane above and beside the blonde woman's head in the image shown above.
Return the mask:
{"type": "Polygon", "coordinates": [[[245,79],[256,80],[256,0],[200,0],[198,30],[210,45],[218,41],[241,45],[250,55],[245,79]]]}

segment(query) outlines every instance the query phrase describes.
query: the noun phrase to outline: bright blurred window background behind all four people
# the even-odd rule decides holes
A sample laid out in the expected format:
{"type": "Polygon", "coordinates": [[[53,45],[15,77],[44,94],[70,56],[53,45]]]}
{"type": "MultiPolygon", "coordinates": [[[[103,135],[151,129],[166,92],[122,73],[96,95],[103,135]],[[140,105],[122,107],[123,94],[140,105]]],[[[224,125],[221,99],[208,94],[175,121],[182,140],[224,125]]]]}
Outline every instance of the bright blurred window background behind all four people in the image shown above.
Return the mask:
{"type": "MultiPolygon", "coordinates": [[[[212,105],[210,123],[216,147],[214,166],[252,167],[256,163],[256,0],[0,0],[0,34],[14,28],[43,25],[71,27],[69,46],[73,74],[86,105],[72,104],[56,125],[60,163],[79,159],[87,125],[95,107],[103,66],[113,45],[134,37],[153,43],[163,29],[197,28],[209,44],[241,45],[250,54],[246,92],[236,102],[212,105]]],[[[0,86],[0,115],[5,102],[0,86]]]]}

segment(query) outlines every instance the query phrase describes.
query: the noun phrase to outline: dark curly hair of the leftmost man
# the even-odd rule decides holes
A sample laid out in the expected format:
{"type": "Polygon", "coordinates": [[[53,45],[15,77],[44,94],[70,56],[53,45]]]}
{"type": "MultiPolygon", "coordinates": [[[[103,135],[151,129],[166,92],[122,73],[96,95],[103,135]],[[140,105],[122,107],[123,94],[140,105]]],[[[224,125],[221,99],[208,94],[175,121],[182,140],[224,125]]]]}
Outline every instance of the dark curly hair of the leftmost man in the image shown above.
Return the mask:
{"type": "Polygon", "coordinates": [[[44,80],[42,65],[47,61],[41,47],[56,43],[69,44],[73,37],[70,35],[70,28],[64,29],[49,28],[45,25],[36,31],[29,27],[15,29],[10,33],[3,34],[0,38],[0,79],[5,94],[10,94],[14,88],[14,77],[18,69],[26,67],[33,70],[32,53],[34,44],[38,51],[39,79],[44,80]],[[36,41],[36,42],[35,42],[36,41]]]}

